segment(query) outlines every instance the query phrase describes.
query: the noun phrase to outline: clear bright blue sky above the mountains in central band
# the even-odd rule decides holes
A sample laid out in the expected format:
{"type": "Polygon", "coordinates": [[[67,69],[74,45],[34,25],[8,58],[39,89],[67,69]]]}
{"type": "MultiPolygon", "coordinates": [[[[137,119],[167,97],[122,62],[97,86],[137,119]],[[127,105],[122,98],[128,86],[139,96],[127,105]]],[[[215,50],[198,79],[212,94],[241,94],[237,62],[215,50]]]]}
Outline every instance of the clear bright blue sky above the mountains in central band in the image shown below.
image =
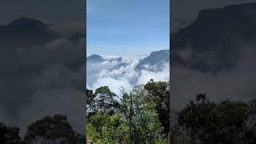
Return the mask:
{"type": "Polygon", "coordinates": [[[170,0],[87,0],[87,55],[169,49],[170,0]]]}

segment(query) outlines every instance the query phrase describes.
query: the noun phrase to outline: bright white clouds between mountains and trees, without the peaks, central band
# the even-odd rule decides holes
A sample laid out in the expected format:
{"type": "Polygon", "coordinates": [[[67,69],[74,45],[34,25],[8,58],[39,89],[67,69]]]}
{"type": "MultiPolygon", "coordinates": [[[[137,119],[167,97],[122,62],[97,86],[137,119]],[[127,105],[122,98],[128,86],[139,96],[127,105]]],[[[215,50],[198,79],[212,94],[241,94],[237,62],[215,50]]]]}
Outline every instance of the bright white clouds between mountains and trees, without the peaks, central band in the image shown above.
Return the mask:
{"type": "Polygon", "coordinates": [[[136,66],[138,66],[139,62],[141,62],[145,56],[122,58],[122,62],[113,60],[113,58],[118,57],[103,56],[103,58],[105,58],[106,61],[96,64],[87,64],[87,89],[96,90],[100,86],[108,86],[115,94],[120,94],[121,89],[131,91],[134,89],[134,86],[146,84],[150,79],[154,79],[156,82],[168,82],[170,79],[169,62],[164,62],[161,64],[161,69],[153,71],[149,70],[149,65],[144,65],[143,67],[145,69],[136,69],[136,66]],[[120,63],[126,63],[127,65],[118,66],[120,63]]]}

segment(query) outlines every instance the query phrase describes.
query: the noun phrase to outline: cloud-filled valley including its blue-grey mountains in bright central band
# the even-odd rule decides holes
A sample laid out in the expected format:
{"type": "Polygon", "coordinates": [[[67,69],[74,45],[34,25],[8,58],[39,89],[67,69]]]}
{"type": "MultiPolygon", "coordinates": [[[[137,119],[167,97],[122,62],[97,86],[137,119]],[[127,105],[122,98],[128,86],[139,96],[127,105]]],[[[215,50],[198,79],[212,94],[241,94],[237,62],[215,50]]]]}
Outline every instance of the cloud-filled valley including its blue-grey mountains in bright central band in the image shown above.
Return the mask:
{"type": "Polygon", "coordinates": [[[86,86],[91,90],[109,86],[115,94],[120,94],[122,88],[130,91],[150,79],[167,82],[170,79],[169,54],[169,50],[160,50],[134,58],[90,55],[87,57],[86,86]],[[156,58],[160,55],[165,58],[156,58]]]}

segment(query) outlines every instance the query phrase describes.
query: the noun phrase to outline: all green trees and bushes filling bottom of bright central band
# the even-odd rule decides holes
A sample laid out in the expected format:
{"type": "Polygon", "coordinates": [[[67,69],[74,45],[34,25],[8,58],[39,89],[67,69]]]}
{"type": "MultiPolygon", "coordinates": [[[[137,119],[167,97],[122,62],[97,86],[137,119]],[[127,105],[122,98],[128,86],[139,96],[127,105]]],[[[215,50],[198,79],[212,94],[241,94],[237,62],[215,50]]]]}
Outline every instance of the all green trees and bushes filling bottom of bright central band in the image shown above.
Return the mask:
{"type": "Polygon", "coordinates": [[[117,96],[107,86],[87,94],[87,141],[94,143],[167,143],[169,87],[151,80],[117,96]]]}

